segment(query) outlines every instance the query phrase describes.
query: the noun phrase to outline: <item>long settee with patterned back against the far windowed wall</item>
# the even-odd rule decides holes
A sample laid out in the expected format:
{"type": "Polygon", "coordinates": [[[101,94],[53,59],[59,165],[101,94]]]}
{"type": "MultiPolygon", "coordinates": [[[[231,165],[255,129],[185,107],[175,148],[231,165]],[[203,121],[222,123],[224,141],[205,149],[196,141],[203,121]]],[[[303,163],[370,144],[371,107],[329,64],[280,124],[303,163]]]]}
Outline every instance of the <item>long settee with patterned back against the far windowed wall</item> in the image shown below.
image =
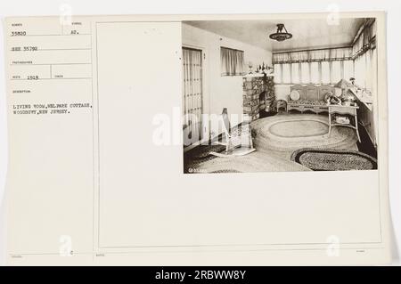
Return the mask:
{"type": "Polygon", "coordinates": [[[287,112],[290,110],[299,110],[301,113],[304,111],[312,111],[317,113],[328,111],[327,101],[325,95],[327,93],[337,94],[341,92],[340,88],[332,85],[292,85],[291,93],[296,91],[296,95],[289,95],[287,101],[287,112]],[[298,100],[292,100],[291,97],[299,96],[298,100]]]}

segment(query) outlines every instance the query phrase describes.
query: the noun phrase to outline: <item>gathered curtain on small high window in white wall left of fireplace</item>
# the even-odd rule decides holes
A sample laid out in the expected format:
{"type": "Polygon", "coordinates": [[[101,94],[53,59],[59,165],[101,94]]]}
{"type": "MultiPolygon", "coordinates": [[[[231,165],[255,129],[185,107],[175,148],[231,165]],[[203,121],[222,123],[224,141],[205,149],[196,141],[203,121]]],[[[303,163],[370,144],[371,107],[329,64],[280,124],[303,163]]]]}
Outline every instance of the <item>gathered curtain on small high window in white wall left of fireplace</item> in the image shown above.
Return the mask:
{"type": "Polygon", "coordinates": [[[220,48],[221,76],[242,76],[244,72],[243,52],[231,48],[220,48]]]}

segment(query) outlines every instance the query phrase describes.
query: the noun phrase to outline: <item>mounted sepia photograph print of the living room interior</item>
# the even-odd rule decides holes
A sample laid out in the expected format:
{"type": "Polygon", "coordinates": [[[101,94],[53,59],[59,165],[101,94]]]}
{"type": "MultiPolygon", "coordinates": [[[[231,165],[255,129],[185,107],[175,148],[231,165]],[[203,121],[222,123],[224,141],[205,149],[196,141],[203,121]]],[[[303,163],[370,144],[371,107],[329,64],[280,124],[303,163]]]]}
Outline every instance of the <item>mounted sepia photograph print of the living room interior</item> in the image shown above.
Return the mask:
{"type": "Polygon", "coordinates": [[[188,20],[184,173],[377,169],[374,18],[188,20]]]}

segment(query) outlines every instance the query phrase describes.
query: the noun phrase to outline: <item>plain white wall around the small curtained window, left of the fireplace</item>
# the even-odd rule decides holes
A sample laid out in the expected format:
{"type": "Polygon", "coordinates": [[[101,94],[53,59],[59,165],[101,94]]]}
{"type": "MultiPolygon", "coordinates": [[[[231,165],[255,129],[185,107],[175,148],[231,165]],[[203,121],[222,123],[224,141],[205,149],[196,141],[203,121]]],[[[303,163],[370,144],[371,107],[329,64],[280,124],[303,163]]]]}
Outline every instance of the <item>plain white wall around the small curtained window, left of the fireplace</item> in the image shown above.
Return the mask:
{"type": "Polygon", "coordinates": [[[242,50],[247,66],[246,70],[248,70],[249,61],[253,63],[254,69],[263,61],[272,66],[270,51],[188,24],[183,24],[183,45],[202,48],[206,55],[203,112],[208,114],[220,114],[223,108],[227,108],[229,114],[242,114],[242,77],[222,77],[220,75],[220,46],[242,50]]]}

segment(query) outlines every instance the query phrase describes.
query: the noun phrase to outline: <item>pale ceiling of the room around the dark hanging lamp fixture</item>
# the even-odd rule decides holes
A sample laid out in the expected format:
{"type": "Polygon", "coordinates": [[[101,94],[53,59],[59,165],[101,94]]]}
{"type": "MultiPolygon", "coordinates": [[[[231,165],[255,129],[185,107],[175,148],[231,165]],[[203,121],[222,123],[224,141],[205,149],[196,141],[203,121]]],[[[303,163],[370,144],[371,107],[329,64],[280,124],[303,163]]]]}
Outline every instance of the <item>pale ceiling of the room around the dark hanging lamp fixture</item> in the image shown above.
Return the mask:
{"type": "Polygon", "coordinates": [[[339,19],[329,25],[326,19],[291,20],[190,20],[189,25],[203,28],[223,37],[257,45],[273,52],[350,45],[363,18],[339,19]],[[292,38],[277,42],[268,36],[276,32],[276,24],[283,23],[292,38]]]}

